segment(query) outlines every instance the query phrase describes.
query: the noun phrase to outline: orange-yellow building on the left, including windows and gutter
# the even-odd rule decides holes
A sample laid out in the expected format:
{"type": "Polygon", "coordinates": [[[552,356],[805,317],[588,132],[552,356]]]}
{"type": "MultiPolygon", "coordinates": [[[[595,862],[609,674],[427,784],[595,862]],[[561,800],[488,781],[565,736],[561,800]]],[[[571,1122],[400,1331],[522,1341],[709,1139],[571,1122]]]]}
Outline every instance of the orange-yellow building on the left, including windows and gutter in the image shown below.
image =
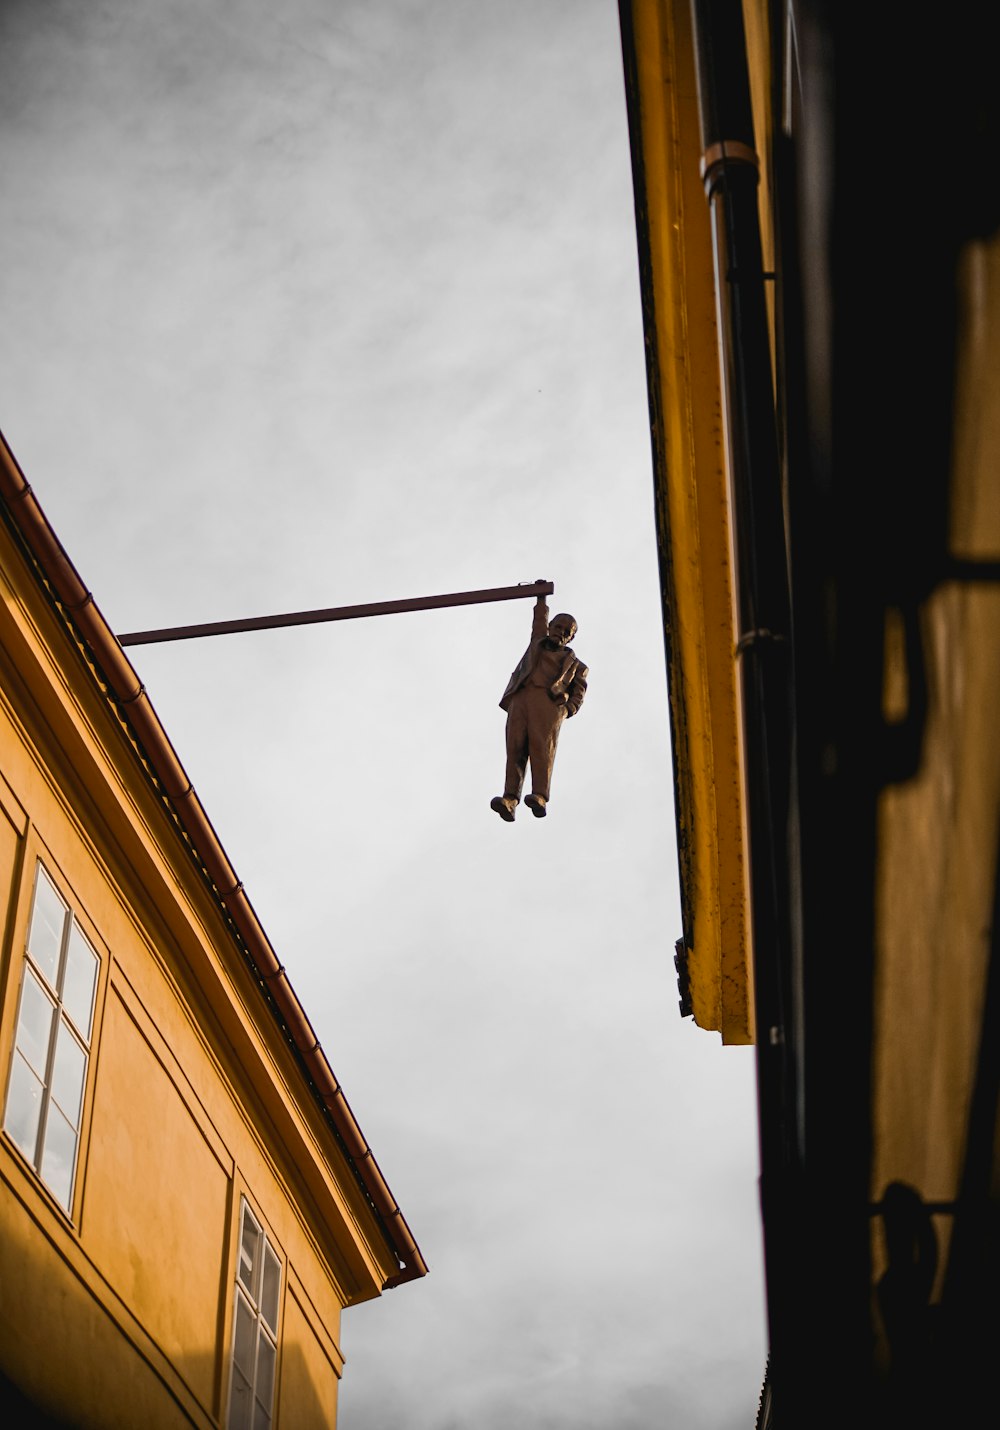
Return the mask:
{"type": "Polygon", "coordinates": [[[3,442],[0,515],[0,1401],[330,1427],[340,1313],[426,1266],[3,442]]]}

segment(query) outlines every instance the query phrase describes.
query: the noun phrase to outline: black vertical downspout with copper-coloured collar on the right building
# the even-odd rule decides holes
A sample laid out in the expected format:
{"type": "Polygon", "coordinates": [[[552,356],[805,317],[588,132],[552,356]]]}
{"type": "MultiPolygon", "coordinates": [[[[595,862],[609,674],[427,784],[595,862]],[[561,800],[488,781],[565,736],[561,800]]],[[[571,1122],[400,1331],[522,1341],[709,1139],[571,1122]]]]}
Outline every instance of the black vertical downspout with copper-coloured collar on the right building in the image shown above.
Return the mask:
{"type": "MultiPolygon", "coordinates": [[[[775,1409],[794,1374],[794,1247],[800,1165],[793,1075],[788,817],[791,615],[771,343],[757,207],[758,157],[740,0],[691,0],[702,176],[711,210],[720,365],[732,512],[737,652],[747,786],[750,927],[757,1022],[761,1216],[775,1409]]],[[[790,1409],[785,1406],[785,1409],[790,1409]]],[[[781,1423],[778,1414],[778,1423],[781,1423]]],[[[791,1420],[788,1421],[793,1423],[791,1420]]]]}

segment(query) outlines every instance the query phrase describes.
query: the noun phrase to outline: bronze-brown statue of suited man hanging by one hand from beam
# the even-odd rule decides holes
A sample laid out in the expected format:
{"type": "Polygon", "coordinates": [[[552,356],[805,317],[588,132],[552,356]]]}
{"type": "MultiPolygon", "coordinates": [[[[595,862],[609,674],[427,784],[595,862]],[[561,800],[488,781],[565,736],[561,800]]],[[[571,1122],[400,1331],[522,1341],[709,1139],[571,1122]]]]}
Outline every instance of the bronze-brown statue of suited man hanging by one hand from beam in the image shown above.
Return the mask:
{"type": "Polygon", "coordinates": [[[531,645],[506,684],[501,709],[506,711],[506,779],[504,794],[491,799],[508,824],[521,798],[525,766],[531,761],[531,794],[525,804],[538,818],[548,807],[552,761],[559,728],[575,715],[587,694],[587,666],[569,646],[577,622],[564,613],[548,618],[545,596],[535,602],[531,645]]]}

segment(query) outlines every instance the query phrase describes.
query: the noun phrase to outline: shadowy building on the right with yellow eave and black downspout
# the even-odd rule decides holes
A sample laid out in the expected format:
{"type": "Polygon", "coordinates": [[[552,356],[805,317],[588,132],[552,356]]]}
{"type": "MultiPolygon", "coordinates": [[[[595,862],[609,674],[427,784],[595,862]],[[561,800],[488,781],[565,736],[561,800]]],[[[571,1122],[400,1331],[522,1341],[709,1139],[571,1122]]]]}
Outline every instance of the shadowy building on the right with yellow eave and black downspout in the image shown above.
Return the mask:
{"type": "Polygon", "coordinates": [[[928,24],[817,0],[619,0],[619,13],[678,968],[682,1011],[755,1044],[770,1333],[758,1424],[989,1419],[989,17],[960,0],[928,24]]]}

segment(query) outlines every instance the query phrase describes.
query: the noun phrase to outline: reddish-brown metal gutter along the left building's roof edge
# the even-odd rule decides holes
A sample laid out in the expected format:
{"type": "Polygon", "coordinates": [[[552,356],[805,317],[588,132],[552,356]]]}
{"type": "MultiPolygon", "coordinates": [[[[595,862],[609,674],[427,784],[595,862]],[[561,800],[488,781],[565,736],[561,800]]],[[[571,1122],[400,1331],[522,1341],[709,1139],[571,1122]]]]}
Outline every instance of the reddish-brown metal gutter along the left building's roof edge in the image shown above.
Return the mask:
{"type": "Polygon", "coordinates": [[[421,1248],[351,1111],[343,1088],[326,1061],[326,1054],[285,967],[270,947],[243,885],[236,878],[226,851],[160,725],[144,685],[49,525],[3,433],[0,433],[0,496],[6,500],[10,518],[40,572],[52,585],[76,632],[89,646],[96,666],[107,682],[103,694],[134,738],[139,752],[147,762],[147,774],[166,797],[187,835],[189,852],[207,875],[226,922],[239,935],[242,951],[266,994],[265,1001],[292,1044],[310,1093],[332,1124],[392,1253],[402,1263],[402,1270],[389,1277],[383,1290],[426,1276],[428,1267],[421,1248]]]}

